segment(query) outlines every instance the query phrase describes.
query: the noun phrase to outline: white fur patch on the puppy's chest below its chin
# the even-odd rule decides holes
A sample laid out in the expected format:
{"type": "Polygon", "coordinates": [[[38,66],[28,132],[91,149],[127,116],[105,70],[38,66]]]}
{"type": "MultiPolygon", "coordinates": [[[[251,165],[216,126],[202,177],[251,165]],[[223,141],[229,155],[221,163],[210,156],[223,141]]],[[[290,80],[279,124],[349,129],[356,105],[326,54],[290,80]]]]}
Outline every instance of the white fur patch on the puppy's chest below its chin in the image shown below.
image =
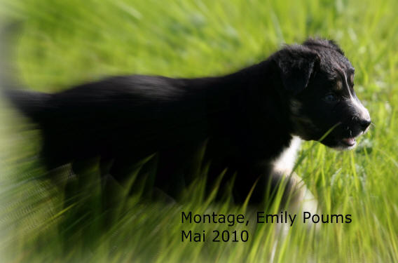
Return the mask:
{"type": "Polygon", "coordinates": [[[284,173],[284,175],[289,175],[294,168],[294,163],[296,162],[297,151],[299,151],[301,146],[301,139],[297,136],[293,136],[291,139],[289,147],[284,149],[280,156],[277,156],[275,161],[273,161],[273,172],[284,173]]]}

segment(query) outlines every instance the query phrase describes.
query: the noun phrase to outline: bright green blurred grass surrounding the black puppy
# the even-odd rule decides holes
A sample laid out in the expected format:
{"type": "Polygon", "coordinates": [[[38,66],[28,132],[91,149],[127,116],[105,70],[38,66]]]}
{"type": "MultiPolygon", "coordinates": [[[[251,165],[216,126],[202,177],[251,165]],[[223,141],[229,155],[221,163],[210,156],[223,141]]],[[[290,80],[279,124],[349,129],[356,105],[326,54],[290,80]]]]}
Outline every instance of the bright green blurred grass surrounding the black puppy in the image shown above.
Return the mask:
{"type": "Polygon", "coordinates": [[[34,158],[37,131],[21,131],[23,120],[1,107],[3,262],[398,262],[396,10],[394,0],[2,1],[2,22],[24,21],[13,60],[20,81],[35,90],[114,74],[224,74],[282,43],[324,36],[338,41],[355,66],[357,95],[375,123],[354,151],[306,142],[296,169],[323,214],[351,214],[352,223],[317,231],[296,224],[285,232],[254,219],[248,227],[181,224],[182,210],[249,216],[203,196],[199,179],[183,201],[169,205],[119,190],[121,205],[109,219],[99,209],[95,164],[71,182],[80,191],[64,201],[49,182],[34,180],[44,173],[34,158]],[[247,229],[249,241],[182,243],[183,229],[247,229]]]}

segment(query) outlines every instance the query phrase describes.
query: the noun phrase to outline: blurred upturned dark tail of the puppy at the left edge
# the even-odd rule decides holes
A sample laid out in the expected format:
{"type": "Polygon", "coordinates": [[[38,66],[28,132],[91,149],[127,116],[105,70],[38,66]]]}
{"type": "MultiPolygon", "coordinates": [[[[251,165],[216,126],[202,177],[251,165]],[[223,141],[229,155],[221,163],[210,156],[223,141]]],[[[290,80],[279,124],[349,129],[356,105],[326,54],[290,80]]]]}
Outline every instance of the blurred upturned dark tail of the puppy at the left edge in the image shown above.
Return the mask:
{"type": "Polygon", "coordinates": [[[12,54],[22,29],[22,22],[13,22],[0,31],[0,93],[20,113],[35,123],[41,123],[48,113],[50,94],[22,89],[18,83],[12,54]]]}

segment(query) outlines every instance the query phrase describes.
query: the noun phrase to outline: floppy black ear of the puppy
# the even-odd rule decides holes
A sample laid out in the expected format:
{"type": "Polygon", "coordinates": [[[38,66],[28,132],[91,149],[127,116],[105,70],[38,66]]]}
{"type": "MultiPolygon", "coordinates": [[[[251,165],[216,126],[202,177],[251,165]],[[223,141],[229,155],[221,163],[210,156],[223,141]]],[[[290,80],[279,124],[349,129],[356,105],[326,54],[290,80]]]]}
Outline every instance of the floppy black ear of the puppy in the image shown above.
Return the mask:
{"type": "Polygon", "coordinates": [[[291,95],[297,95],[308,86],[320,63],[320,56],[314,50],[297,45],[278,51],[273,61],[279,68],[284,89],[291,95]]]}

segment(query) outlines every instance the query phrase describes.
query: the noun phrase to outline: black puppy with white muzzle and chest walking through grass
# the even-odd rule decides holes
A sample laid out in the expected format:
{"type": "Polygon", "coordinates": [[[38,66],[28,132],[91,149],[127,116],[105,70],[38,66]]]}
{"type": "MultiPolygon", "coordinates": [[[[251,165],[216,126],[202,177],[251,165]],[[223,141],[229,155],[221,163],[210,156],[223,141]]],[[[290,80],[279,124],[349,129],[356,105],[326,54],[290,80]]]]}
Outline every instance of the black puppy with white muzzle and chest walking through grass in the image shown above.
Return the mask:
{"type": "Polygon", "coordinates": [[[135,163],[155,154],[151,186],[178,196],[201,156],[209,185],[226,169],[221,187],[234,178],[241,202],[255,186],[251,200],[258,202],[271,177],[291,172],[294,136],[320,140],[337,125],[322,143],[355,146],[371,120],[353,78],[336,43],[309,39],[226,76],[116,76],[55,94],[7,95],[39,124],[49,170],[99,157],[108,168],[102,173],[123,182],[135,163]]]}

